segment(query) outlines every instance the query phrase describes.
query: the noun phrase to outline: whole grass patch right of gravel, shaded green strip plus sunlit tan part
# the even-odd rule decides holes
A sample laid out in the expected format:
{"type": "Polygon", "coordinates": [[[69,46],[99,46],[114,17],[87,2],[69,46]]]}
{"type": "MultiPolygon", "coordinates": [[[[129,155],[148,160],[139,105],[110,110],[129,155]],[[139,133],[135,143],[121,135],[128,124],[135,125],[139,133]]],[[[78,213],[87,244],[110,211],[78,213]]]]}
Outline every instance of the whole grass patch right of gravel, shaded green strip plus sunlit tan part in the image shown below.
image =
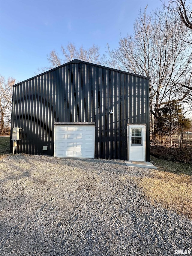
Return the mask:
{"type": "Polygon", "coordinates": [[[142,178],[135,178],[152,204],[173,210],[192,219],[192,165],[151,157],[158,170],[151,170],[142,178]]]}

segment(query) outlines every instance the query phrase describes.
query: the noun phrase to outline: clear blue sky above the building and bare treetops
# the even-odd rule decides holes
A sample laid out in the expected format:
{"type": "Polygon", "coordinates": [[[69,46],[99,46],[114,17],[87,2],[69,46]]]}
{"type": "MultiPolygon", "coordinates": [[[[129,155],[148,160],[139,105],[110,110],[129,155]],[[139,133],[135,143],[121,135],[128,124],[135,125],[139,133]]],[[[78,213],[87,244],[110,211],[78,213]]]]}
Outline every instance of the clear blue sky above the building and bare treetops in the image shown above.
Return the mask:
{"type": "Polygon", "coordinates": [[[0,0],[0,75],[18,82],[48,66],[51,50],[68,42],[105,53],[133,32],[139,11],[161,6],[160,0],[9,1],[0,0]]]}

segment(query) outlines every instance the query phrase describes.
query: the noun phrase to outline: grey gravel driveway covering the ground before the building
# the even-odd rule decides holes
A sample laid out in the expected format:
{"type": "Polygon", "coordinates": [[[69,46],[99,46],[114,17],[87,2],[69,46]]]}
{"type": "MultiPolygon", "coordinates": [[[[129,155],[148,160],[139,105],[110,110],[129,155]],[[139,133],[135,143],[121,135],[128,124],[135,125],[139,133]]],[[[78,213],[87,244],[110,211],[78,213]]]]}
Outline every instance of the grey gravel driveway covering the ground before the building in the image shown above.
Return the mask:
{"type": "Polygon", "coordinates": [[[153,206],[124,161],[0,160],[0,255],[192,254],[192,221],[153,206]]]}

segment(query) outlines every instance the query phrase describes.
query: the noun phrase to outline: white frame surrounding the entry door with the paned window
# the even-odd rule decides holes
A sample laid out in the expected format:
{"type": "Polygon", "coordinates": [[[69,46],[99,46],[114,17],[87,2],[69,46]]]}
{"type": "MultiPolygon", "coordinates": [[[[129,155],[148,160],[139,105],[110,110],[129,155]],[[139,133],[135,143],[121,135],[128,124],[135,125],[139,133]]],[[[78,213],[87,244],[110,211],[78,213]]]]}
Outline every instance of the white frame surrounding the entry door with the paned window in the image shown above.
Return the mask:
{"type": "Polygon", "coordinates": [[[144,134],[143,134],[143,150],[144,150],[144,161],[146,161],[146,124],[127,124],[127,160],[130,160],[130,128],[138,128],[143,126],[144,134]]]}

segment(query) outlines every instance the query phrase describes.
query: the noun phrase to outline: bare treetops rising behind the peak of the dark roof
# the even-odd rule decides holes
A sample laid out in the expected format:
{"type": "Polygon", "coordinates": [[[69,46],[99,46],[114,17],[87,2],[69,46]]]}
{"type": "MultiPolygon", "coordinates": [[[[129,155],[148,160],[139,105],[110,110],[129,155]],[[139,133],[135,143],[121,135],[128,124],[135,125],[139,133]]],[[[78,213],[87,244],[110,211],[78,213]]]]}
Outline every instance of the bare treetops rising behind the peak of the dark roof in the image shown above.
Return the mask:
{"type": "Polygon", "coordinates": [[[74,44],[68,43],[66,47],[63,47],[61,45],[61,52],[63,55],[63,59],[59,57],[58,53],[56,53],[55,50],[52,50],[47,55],[47,60],[51,65],[45,68],[38,68],[38,72],[35,72],[35,74],[39,74],[51,68],[58,67],[66,62],[72,61],[73,59],[79,59],[82,61],[91,62],[95,64],[101,64],[99,47],[95,46],[94,44],[92,47],[88,49],[85,49],[83,46],[77,49],[74,44]]]}

